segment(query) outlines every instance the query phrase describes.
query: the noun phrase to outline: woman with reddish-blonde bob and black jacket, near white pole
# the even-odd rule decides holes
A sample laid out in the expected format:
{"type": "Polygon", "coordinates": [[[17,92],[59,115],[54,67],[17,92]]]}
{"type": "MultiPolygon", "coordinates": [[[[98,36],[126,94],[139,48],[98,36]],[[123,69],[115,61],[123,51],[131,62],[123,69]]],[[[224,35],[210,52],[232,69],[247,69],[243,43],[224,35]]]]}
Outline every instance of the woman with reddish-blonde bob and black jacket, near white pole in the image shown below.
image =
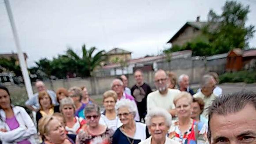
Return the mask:
{"type": "Polygon", "coordinates": [[[38,101],[40,104],[40,110],[36,113],[37,123],[40,120],[40,118],[46,115],[53,115],[54,112],[60,112],[58,107],[52,104],[52,99],[46,91],[39,92],[38,101]]]}

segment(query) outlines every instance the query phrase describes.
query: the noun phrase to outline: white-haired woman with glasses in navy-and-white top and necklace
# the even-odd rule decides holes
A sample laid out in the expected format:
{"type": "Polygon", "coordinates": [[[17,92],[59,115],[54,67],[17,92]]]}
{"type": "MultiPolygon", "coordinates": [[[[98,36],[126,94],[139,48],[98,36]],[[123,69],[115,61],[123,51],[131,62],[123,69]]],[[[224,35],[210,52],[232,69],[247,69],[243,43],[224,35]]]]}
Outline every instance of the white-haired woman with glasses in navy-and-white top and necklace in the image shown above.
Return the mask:
{"type": "Polygon", "coordinates": [[[145,124],[135,122],[136,107],[131,100],[121,99],[115,109],[123,125],[115,131],[112,144],[138,144],[150,136],[145,124]]]}

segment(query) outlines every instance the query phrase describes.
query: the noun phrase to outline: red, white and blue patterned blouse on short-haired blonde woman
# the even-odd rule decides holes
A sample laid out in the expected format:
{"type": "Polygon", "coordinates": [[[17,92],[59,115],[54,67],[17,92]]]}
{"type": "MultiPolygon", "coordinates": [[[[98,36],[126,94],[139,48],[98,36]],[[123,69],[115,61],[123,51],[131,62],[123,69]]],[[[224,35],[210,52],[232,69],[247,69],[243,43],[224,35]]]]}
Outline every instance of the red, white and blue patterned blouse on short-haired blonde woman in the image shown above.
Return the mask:
{"type": "Polygon", "coordinates": [[[178,121],[176,120],[170,128],[168,137],[182,144],[208,144],[207,125],[203,122],[196,122],[196,120],[193,120],[190,128],[182,134],[179,130],[178,121]],[[198,131],[197,138],[195,138],[196,125],[198,131]]]}

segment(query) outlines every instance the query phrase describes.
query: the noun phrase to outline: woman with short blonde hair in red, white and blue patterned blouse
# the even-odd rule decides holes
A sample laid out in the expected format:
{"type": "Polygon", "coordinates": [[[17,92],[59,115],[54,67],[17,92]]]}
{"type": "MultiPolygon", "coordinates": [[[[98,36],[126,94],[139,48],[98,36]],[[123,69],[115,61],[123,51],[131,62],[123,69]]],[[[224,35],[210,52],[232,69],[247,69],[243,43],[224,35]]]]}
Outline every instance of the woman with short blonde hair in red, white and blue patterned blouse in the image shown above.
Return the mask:
{"type": "Polygon", "coordinates": [[[174,104],[178,119],[170,128],[169,138],[182,144],[207,143],[206,125],[191,118],[191,94],[181,92],[179,95],[175,96],[174,104]]]}

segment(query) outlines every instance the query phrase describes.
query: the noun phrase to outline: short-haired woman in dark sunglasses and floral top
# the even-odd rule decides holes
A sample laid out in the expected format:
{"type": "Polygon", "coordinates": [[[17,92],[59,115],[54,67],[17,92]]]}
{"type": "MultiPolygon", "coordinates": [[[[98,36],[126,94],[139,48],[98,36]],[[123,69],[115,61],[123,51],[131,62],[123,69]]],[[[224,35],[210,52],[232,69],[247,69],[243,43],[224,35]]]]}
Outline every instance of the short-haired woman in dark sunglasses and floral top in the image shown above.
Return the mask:
{"type": "Polygon", "coordinates": [[[87,124],[77,134],[76,144],[111,144],[113,130],[99,124],[100,108],[88,104],[84,109],[87,124]]]}

